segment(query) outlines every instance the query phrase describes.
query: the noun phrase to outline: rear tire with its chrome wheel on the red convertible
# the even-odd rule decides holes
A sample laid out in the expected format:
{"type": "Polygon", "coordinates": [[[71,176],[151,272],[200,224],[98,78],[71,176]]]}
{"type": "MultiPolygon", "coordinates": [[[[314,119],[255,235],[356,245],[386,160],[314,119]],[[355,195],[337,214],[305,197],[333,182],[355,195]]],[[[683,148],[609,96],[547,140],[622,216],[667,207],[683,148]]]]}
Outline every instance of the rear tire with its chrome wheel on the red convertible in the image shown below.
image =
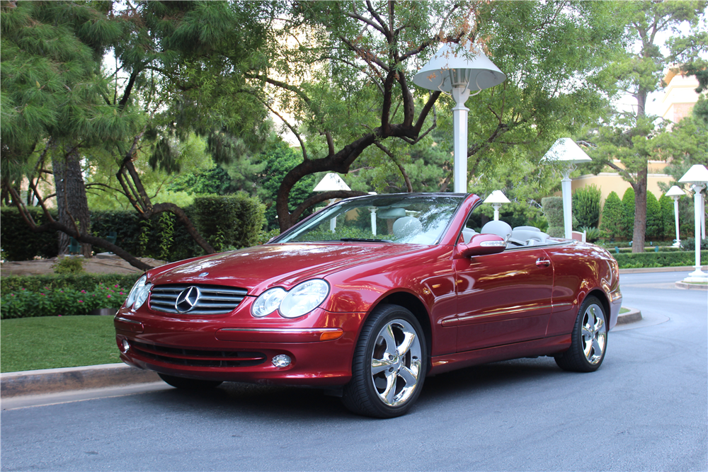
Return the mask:
{"type": "Polygon", "coordinates": [[[556,356],[558,367],[571,372],[595,372],[607,351],[607,313],[596,297],[583,301],[573,334],[571,347],[556,356]]]}

